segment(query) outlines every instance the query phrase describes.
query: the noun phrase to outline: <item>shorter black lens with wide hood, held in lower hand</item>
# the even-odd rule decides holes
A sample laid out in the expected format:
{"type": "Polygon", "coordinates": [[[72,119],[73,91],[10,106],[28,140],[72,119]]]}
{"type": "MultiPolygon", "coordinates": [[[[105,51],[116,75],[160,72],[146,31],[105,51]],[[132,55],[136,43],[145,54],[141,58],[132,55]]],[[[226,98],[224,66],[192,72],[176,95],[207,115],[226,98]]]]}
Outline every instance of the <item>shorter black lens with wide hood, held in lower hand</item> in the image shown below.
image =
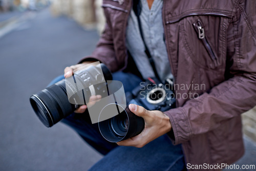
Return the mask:
{"type": "Polygon", "coordinates": [[[104,117],[104,114],[113,112],[115,108],[122,112],[117,113],[116,116],[110,119],[98,122],[100,133],[106,140],[119,142],[142,132],[145,126],[144,119],[132,113],[128,107],[123,109],[119,104],[108,104],[102,109],[99,117],[104,117]]]}

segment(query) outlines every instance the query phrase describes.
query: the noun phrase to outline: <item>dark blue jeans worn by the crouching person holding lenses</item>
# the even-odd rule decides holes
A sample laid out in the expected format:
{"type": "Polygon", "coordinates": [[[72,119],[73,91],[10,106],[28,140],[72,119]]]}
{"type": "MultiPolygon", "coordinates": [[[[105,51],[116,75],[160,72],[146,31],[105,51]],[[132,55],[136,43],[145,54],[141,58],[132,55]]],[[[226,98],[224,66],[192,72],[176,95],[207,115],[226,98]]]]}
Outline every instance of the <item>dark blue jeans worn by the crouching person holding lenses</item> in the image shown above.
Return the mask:
{"type": "MultiPolygon", "coordinates": [[[[63,79],[55,78],[50,84],[63,79]]],[[[125,92],[132,91],[141,79],[131,73],[113,73],[113,80],[123,83],[125,92]]],[[[50,85],[49,84],[49,85],[50,85]]],[[[185,166],[181,145],[173,145],[165,134],[142,148],[118,146],[106,141],[100,134],[98,124],[92,124],[87,113],[73,113],[62,122],[74,129],[88,144],[104,157],[90,170],[183,170],[185,166]]]]}

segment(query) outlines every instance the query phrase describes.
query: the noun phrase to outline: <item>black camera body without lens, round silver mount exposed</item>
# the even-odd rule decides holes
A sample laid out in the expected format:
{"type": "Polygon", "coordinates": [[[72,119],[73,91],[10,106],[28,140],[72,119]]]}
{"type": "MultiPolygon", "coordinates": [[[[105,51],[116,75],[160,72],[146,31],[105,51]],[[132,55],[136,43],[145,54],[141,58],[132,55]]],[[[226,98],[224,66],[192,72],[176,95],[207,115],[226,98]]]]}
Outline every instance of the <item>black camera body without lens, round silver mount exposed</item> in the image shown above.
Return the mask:
{"type": "Polygon", "coordinates": [[[167,111],[176,106],[172,81],[162,84],[157,78],[141,82],[131,93],[126,93],[127,102],[143,106],[146,110],[167,111]]]}

